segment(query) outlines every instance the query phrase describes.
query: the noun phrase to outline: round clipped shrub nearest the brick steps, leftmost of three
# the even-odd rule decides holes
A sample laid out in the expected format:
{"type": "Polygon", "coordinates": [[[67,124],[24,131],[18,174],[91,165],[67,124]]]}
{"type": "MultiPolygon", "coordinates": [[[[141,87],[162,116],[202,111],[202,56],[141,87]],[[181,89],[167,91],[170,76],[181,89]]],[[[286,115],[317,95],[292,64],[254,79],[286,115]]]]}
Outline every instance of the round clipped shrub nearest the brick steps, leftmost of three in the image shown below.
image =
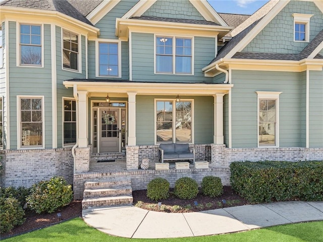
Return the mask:
{"type": "Polygon", "coordinates": [[[170,183],[167,179],[157,177],[147,185],[147,197],[150,200],[166,199],[169,197],[170,183]]]}

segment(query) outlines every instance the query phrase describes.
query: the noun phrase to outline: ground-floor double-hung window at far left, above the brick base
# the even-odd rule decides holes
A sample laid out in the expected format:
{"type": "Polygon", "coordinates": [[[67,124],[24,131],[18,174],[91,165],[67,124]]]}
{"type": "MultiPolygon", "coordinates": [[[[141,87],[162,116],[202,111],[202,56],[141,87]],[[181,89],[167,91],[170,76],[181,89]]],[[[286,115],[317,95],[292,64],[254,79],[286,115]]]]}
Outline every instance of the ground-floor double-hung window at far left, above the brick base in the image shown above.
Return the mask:
{"type": "Polygon", "coordinates": [[[43,98],[20,97],[20,147],[43,146],[43,98]]]}

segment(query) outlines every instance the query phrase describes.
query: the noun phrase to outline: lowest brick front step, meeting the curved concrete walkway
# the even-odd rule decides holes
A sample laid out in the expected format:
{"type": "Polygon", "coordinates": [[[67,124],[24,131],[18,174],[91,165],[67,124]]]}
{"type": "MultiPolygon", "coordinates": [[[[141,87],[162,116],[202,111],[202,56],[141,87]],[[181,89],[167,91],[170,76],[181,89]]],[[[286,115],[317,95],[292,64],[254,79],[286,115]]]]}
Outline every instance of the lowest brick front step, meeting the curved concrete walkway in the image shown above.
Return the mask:
{"type": "Polygon", "coordinates": [[[130,205],[133,202],[132,195],[102,197],[102,198],[86,198],[82,200],[82,209],[102,206],[130,205]]]}

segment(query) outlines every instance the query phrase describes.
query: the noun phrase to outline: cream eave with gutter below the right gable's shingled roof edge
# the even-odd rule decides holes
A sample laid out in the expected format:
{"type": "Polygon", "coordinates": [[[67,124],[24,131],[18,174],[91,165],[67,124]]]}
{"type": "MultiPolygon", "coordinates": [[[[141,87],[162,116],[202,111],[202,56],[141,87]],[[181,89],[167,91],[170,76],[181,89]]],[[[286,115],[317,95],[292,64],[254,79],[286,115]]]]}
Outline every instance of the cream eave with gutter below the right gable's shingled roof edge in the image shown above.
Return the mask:
{"type": "Polygon", "coordinates": [[[249,71],[277,71],[277,72],[304,72],[322,71],[323,59],[301,59],[300,61],[281,61],[270,59],[219,59],[204,67],[202,71],[205,77],[214,77],[220,72],[216,69],[219,65],[225,70],[249,70],[249,71]]]}

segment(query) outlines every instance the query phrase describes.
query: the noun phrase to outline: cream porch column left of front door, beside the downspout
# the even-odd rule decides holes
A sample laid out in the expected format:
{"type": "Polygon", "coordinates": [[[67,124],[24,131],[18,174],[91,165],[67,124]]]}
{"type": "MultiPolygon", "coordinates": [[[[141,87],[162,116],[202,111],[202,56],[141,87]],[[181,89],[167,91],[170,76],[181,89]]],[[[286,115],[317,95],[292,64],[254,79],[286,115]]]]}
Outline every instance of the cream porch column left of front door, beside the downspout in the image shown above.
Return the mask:
{"type": "Polygon", "coordinates": [[[78,145],[79,148],[86,148],[87,139],[87,91],[78,91],[78,125],[79,125],[79,135],[78,135],[78,145]]]}

